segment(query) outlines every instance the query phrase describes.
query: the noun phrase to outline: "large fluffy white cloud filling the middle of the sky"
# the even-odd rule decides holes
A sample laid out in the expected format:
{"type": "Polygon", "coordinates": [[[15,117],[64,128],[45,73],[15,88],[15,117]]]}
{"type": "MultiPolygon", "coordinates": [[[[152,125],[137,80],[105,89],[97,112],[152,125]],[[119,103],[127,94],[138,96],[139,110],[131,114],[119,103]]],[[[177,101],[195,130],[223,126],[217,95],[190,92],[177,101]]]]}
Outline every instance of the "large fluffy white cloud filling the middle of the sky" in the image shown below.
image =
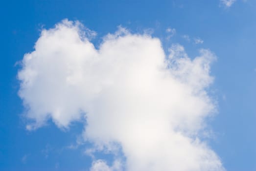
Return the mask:
{"type": "Polygon", "coordinates": [[[180,44],[165,55],[158,38],[121,27],[95,48],[84,30],[64,20],[24,55],[19,96],[34,121],[27,128],[86,119],[84,140],[117,161],[95,160],[92,171],[224,171],[200,140],[215,111],[206,90],[215,55],[201,49],[192,60],[180,44]]]}

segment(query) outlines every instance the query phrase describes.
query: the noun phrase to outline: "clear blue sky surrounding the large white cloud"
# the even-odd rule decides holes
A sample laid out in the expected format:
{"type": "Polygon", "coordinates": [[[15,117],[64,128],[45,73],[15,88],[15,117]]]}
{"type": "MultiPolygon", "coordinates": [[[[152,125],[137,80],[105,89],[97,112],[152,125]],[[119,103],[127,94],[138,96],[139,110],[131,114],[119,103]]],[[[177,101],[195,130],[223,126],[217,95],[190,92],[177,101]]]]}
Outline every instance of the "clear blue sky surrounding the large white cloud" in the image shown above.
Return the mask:
{"type": "MultiPolygon", "coordinates": [[[[59,128],[49,119],[43,127],[27,130],[28,119],[22,115],[26,110],[18,96],[17,74],[22,66],[17,62],[35,50],[42,28],[53,28],[63,19],[80,21],[95,31],[92,43],[97,48],[102,37],[121,25],[131,34],[150,32],[165,53],[177,43],[192,59],[200,48],[209,49],[217,60],[211,64],[214,82],[207,92],[217,101],[218,112],[205,121],[211,130],[205,141],[227,171],[256,170],[255,0],[236,0],[231,6],[219,0],[12,0],[1,2],[0,11],[1,171],[87,171],[92,166],[93,158],[84,152],[92,142],[70,148],[81,138],[83,122],[59,128]]],[[[102,151],[94,155],[108,164],[114,160],[102,151]]]]}

